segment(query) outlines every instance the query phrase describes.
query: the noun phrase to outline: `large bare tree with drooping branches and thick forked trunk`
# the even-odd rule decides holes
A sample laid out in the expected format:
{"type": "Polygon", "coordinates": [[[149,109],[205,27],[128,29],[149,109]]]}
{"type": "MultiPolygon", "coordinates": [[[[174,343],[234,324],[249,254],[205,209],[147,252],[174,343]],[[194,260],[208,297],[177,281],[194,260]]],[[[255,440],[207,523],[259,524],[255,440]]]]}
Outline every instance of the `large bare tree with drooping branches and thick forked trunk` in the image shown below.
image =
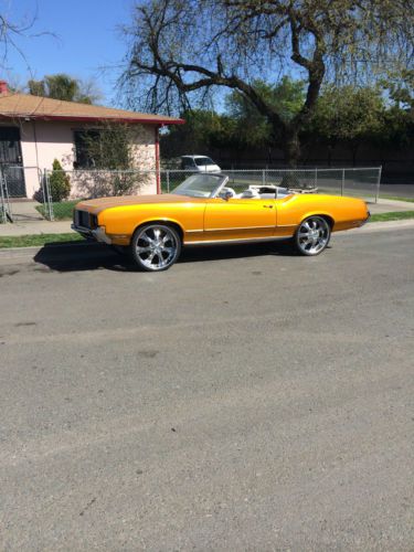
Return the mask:
{"type": "Polygon", "coordinates": [[[121,84],[132,100],[168,113],[220,87],[238,91],[295,166],[322,84],[367,83],[395,60],[412,64],[413,29],[414,0],[142,0],[125,30],[121,84]],[[306,96],[287,120],[254,81],[289,74],[306,82],[306,96]]]}

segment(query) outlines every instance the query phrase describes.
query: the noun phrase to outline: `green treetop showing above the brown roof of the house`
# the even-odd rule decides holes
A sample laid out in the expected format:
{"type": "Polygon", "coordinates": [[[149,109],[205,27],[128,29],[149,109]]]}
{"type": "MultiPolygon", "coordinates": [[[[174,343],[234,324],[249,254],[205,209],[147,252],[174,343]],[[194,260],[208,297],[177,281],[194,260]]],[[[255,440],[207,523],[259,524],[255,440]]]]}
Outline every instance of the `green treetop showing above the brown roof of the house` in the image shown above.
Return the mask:
{"type": "Polygon", "coordinates": [[[94,91],[92,83],[73,78],[65,73],[46,75],[41,81],[31,79],[28,88],[33,96],[44,96],[65,102],[79,102],[82,104],[93,104],[99,97],[94,91]]]}

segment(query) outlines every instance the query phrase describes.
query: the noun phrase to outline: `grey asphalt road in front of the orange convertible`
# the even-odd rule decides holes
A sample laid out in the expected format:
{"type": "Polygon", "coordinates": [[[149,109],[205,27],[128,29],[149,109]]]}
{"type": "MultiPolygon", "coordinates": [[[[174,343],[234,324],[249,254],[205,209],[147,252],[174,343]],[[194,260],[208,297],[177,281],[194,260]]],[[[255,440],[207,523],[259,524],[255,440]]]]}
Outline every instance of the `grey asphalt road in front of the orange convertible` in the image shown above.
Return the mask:
{"type": "Polygon", "coordinates": [[[0,550],[414,545],[413,229],[0,262],[0,550]]]}

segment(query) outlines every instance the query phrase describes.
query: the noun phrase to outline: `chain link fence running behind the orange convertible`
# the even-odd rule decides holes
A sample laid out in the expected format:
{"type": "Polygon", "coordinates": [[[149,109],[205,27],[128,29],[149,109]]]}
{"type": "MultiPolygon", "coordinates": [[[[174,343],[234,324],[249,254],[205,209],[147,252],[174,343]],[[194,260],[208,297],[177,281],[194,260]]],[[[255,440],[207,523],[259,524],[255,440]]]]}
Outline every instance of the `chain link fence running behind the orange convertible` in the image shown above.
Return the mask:
{"type": "MultiPolygon", "coordinates": [[[[26,219],[68,220],[74,205],[83,199],[140,193],[169,193],[194,171],[189,170],[72,170],[52,171],[20,167],[0,170],[0,222],[26,219]],[[13,179],[23,178],[25,193],[32,202],[15,202],[13,179]]],[[[280,187],[298,193],[351,195],[376,202],[380,192],[381,168],[358,169],[254,169],[227,170],[229,185],[237,193],[251,185],[280,187]]],[[[15,188],[14,188],[15,189],[15,188]]]]}

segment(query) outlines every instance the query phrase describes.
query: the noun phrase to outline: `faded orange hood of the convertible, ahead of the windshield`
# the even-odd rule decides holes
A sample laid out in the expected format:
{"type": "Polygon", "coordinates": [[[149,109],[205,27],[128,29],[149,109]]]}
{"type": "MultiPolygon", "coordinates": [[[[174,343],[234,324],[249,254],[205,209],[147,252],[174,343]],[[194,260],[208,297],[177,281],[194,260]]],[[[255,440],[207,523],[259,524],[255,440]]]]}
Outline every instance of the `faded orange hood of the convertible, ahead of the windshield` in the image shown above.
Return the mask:
{"type": "Polygon", "coordinates": [[[189,201],[203,201],[199,198],[188,198],[187,195],[176,195],[162,193],[157,195],[121,195],[116,198],[97,198],[95,200],[81,201],[76,209],[97,214],[105,209],[113,209],[127,205],[148,205],[160,203],[188,203],[189,201]]]}

